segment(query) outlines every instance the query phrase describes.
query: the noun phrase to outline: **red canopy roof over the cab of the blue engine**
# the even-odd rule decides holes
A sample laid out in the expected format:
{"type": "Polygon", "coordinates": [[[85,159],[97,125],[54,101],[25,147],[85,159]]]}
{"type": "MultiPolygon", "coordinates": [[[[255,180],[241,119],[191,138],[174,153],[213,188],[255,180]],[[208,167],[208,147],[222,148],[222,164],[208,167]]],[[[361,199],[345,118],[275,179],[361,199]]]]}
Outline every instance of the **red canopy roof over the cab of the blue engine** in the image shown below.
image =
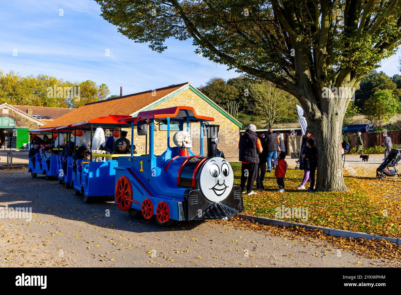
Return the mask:
{"type": "Polygon", "coordinates": [[[215,119],[212,117],[206,117],[206,116],[198,116],[194,110],[194,108],[190,106],[174,106],[171,108],[164,108],[164,109],[158,109],[158,110],[150,110],[150,111],[142,111],[139,112],[138,116],[136,117],[130,117],[130,118],[124,118],[118,120],[118,122],[132,122],[132,121],[137,121],[137,120],[148,120],[148,119],[156,119],[156,118],[172,118],[172,119],[185,119],[186,118],[186,112],[188,112],[188,115],[191,117],[194,117],[199,120],[203,121],[214,121],[215,119]]]}

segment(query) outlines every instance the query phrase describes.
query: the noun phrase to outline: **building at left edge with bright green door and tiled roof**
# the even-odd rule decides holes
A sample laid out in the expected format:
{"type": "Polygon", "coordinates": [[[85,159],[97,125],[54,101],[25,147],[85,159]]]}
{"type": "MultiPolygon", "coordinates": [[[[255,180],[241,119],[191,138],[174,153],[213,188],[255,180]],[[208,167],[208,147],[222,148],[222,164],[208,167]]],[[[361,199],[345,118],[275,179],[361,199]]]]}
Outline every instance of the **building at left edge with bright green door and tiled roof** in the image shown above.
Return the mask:
{"type": "Polygon", "coordinates": [[[28,130],[39,128],[73,109],[0,104],[0,146],[21,149],[28,143],[28,130]]]}

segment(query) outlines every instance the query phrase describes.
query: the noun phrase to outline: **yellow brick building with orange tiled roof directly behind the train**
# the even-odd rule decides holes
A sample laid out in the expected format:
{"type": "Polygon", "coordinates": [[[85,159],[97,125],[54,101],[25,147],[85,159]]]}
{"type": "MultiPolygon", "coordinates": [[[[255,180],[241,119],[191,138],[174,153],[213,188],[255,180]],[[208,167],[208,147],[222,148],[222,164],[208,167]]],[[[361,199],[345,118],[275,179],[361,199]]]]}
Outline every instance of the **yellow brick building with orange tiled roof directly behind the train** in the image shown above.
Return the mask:
{"type": "MultiPolygon", "coordinates": [[[[190,82],[86,104],[41,126],[41,128],[66,126],[107,115],[136,116],[144,110],[156,110],[172,106],[191,106],[195,109],[196,114],[213,117],[215,121],[210,122],[210,124],[220,125],[218,149],[224,152],[225,157],[238,157],[237,142],[242,124],[192,86],[190,82]]],[[[185,128],[186,126],[184,126],[184,130],[185,128]]],[[[128,131],[128,139],[131,139],[131,129],[126,130],[128,131]]],[[[166,149],[166,132],[166,126],[163,125],[156,126],[156,130],[154,130],[156,155],[160,155],[166,149]]],[[[170,146],[174,146],[172,138],[175,132],[177,131],[170,130],[170,146]]],[[[194,143],[192,151],[194,153],[200,149],[200,132],[199,123],[190,125],[190,136],[194,143]]],[[[139,154],[145,153],[145,140],[145,136],[137,136],[135,132],[133,143],[136,145],[136,151],[139,154]]],[[[206,140],[203,150],[206,151],[206,140]]]]}

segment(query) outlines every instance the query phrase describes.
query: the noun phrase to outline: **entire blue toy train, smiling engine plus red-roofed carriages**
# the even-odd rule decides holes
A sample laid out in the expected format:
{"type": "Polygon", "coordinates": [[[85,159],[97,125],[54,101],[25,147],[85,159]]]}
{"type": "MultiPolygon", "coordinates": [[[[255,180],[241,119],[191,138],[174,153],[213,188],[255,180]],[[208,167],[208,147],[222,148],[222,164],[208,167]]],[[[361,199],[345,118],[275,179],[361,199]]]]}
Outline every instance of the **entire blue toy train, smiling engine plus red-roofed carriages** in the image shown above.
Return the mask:
{"type": "Polygon", "coordinates": [[[73,128],[76,136],[79,128],[89,132],[92,143],[93,128],[109,131],[131,127],[131,142],[134,133],[145,136],[146,152],[135,154],[132,145],[131,153],[126,155],[98,154],[92,149],[89,161],[73,161],[71,155],[63,153],[52,155],[50,164],[35,159],[38,162],[33,166],[30,161],[28,171],[32,177],[57,177],[66,187],[73,187],[76,194],[82,193],[85,202],[96,196],[113,195],[120,210],[128,211],[133,218],[154,218],[160,226],[183,220],[228,219],[243,211],[243,199],[240,187],[234,185],[230,164],[217,150],[219,126],[209,124],[211,121],[211,117],[198,116],[192,107],[176,106],[143,111],[136,117],[106,116],[53,129],[31,130],[31,134],[51,132],[53,136],[53,132],[73,128]],[[155,155],[154,128],[160,124],[167,126],[166,149],[155,155]],[[189,131],[193,124],[199,124],[201,131],[198,155],[191,149],[189,131]],[[170,146],[171,126],[178,126],[172,138],[175,146],[170,146]],[[205,134],[207,155],[203,155],[205,134]],[[101,160],[92,161],[92,157],[101,160]]]}

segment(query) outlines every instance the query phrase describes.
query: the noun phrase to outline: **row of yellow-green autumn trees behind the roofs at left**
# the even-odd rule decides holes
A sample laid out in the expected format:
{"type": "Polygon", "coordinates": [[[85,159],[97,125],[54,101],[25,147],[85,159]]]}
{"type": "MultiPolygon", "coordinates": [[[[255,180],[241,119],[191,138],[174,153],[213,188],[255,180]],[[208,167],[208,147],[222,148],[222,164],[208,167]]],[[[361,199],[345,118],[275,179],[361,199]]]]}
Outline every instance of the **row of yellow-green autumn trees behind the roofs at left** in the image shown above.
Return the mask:
{"type": "Polygon", "coordinates": [[[107,85],[91,80],[72,83],[49,75],[22,77],[0,71],[0,104],[79,108],[104,100],[109,93],[107,85]]]}

